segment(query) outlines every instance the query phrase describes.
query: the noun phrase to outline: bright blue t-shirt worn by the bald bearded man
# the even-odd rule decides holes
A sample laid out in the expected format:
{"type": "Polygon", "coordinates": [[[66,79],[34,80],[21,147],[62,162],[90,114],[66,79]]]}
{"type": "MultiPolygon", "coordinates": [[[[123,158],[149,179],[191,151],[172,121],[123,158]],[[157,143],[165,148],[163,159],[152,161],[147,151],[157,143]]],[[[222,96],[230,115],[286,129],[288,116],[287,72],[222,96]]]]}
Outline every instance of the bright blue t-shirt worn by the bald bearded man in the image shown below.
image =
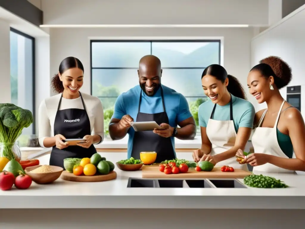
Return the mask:
{"type": "MultiPolygon", "coordinates": [[[[192,114],[188,107],[188,102],[181,93],[178,93],[167,86],[161,86],[163,89],[164,105],[166,114],[169,119],[169,125],[172,127],[177,127],[177,124],[179,122],[192,117],[192,114]]],[[[121,119],[124,115],[130,115],[134,119],[134,121],[136,121],[138,115],[140,93],[142,93],[140,112],[147,114],[155,114],[164,111],[160,89],[156,92],[155,95],[147,96],[141,89],[140,85],[137,85],[128,90],[127,92],[120,94],[114,104],[112,118],[121,119]]],[[[127,157],[130,158],[135,130],[133,128],[129,128],[127,133],[129,134],[127,157]]],[[[173,145],[173,149],[175,151],[174,137],[170,137],[170,139],[173,145]]]]}

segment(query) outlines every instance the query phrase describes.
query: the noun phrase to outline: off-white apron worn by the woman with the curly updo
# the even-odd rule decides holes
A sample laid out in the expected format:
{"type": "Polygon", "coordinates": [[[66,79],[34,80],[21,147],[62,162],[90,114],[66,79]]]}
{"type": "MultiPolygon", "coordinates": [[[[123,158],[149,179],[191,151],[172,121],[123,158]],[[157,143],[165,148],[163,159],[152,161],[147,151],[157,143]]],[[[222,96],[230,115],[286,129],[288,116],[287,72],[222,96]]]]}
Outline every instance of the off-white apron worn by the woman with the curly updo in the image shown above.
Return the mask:
{"type": "MultiPolygon", "coordinates": [[[[284,103],[285,103],[285,100],[283,101],[282,106],[281,106],[280,110],[278,111],[278,117],[276,118],[273,128],[260,127],[263,123],[267,110],[263,113],[262,117],[260,118],[257,128],[255,129],[255,132],[252,136],[252,144],[253,144],[255,153],[263,153],[263,154],[269,154],[269,155],[273,155],[273,156],[277,156],[277,157],[281,157],[281,158],[289,158],[286,156],[286,154],[284,154],[284,152],[280,148],[280,146],[278,144],[278,139],[276,136],[278,119],[280,117],[284,103]]],[[[258,166],[253,167],[253,173],[257,174],[260,172],[294,173],[295,171],[282,169],[278,166],[266,163],[264,165],[258,165],[258,166]]]]}

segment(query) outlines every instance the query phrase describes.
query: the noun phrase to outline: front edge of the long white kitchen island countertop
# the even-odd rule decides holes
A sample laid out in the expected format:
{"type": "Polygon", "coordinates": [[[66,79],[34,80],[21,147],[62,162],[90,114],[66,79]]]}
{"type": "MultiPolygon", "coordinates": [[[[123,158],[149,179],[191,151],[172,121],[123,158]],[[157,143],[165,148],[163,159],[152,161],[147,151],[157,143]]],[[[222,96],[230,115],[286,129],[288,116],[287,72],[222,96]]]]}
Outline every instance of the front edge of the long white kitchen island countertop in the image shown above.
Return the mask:
{"type": "Polygon", "coordinates": [[[0,196],[1,209],[305,209],[305,196],[0,196]],[[179,201],[177,201],[177,197],[179,201]],[[12,206],[13,203],[13,206],[12,206]],[[143,204],[149,203],[149,204],[143,204]]]}

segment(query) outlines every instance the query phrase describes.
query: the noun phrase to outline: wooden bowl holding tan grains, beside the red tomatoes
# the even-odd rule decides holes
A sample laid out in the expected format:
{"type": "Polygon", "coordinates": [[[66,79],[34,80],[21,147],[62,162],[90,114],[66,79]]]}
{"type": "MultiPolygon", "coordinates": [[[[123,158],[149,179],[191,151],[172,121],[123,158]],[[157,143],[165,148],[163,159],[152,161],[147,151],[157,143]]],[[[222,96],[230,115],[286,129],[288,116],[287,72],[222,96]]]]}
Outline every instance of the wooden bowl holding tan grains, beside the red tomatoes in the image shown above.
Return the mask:
{"type": "Polygon", "coordinates": [[[37,184],[49,184],[53,181],[57,180],[61,173],[63,172],[63,168],[59,166],[50,165],[54,170],[52,173],[32,173],[33,169],[36,169],[42,165],[34,165],[24,169],[24,172],[29,175],[32,180],[37,184]]]}

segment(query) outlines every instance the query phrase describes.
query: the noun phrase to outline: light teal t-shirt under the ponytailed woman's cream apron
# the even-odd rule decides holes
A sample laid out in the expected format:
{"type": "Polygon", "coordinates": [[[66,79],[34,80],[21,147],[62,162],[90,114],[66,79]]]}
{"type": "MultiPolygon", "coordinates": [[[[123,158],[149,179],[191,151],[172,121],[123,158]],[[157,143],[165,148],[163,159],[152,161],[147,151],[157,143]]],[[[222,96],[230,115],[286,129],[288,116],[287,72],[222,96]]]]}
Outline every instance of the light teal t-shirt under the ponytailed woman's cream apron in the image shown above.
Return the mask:
{"type": "MultiPolygon", "coordinates": [[[[244,99],[232,96],[233,122],[237,133],[239,127],[253,127],[255,109],[253,105],[244,99]]],[[[199,125],[206,127],[211,117],[212,110],[215,104],[208,100],[201,104],[198,108],[199,125]]],[[[230,103],[220,106],[216,104],[213,120],[228,121],[230,120],[230,103]]]]}

